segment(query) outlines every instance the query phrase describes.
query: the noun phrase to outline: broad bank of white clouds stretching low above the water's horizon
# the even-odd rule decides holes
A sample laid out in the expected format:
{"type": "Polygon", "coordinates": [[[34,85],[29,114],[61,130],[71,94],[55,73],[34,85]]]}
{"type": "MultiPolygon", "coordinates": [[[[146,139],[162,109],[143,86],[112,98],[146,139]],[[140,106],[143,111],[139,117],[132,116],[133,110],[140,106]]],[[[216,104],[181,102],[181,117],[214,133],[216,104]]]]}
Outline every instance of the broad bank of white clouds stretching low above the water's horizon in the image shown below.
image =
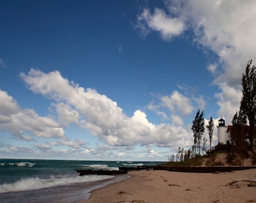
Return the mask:
{"type": "Polygon", "coordinates": [[[155,124],[140,109],[128,117],[111,98],[96,89],[84,89],[62,77],[59,71],[44,73],[31,68],[27,74],[20,73],[20,78],[33,93],[50,101],[49,114],[41,117],[33,109],[23,109],[8,92],[0,90],[0,129],[10,133],[14,140],[32,145],[16,147],[4,144],[0,150],[2,154],[13,154],[15,157],[23,152],[23,156],[27,154],[28,157],[33,154],[44,157],[157,159],[171,149],[176,150],[177,146],[191,146],[193,142],[190,126],[185,126],[183,120],[193,114],[195,104],[197,106],[200,102],[177,90],[171,95],[155,95],[154,102],[145,108],[168,121],[155,124]],[[74,127],[80,132],[69,132],[74,127]],[[90,134],[82,135],[81,129],[90,134]],[[97,140],[96,144],[95,141],[90,144],[90,137],[97,140]],[[137,147],[145,147],[146,150],[135,150],[137,147]],[[154,147],[169,150],[161,154],[155,152],[154,147]]]}

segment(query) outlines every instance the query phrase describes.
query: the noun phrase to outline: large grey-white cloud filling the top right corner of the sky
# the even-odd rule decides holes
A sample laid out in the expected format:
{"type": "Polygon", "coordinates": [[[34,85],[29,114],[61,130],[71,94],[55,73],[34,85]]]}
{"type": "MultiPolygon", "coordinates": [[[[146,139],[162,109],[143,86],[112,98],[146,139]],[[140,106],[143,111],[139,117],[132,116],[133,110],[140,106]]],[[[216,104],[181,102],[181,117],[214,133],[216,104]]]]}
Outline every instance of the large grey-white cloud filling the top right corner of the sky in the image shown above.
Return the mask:
{"type": "Polygon", "coordinates": [[[215,82],[225,81],[229,86],[240,83],[246,62],[256,56],[256,48],[251,46],[256,32],[256,2],[190,1],[186,5],[181,14],[187,15],[195,40],[219,56],[223,73],[215,82]]]}

